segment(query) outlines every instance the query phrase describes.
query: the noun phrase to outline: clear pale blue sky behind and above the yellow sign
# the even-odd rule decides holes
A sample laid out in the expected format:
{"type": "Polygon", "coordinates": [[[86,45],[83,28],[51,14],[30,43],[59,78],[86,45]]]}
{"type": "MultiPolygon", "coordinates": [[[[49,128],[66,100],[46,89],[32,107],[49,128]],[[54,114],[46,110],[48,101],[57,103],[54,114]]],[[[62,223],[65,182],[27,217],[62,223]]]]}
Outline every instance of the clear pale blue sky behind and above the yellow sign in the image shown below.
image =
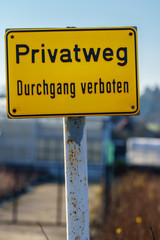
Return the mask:
{"type": "Polygon", "coordinates": [[[7,28],[137,26],[140,92],[160,87],[159,0],[0,1],[0,92],[5,89],[7,28]]]}

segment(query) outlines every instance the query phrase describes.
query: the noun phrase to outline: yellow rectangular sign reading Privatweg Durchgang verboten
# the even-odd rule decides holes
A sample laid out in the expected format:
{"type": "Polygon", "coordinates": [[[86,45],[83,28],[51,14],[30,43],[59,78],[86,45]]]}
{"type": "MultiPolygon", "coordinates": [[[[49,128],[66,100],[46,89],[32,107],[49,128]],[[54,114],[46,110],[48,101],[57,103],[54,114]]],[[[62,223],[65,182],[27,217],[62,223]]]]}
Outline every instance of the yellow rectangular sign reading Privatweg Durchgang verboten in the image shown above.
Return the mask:
{"type": "Polygon", "coordinates": [[[6,66],[11,118],[139,112],[135,28],[11,29],[6,66]]]}

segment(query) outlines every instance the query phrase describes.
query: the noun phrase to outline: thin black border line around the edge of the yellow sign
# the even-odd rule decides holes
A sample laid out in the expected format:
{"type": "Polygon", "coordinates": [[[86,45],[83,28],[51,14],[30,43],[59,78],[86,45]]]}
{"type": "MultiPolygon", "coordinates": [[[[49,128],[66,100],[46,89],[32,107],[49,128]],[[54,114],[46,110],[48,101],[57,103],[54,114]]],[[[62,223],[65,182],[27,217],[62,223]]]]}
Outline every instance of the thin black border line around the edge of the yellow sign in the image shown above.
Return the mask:
{"type": "Polygon", "coordinates": [[[136,115],[139,107],[138,94],[138,63],[137,63],[137,39],[136,27],[119,27],[119,28],[53,28],[53,29],[7,29],[6,33],[6,65],[7,65],[7,96],[8,96],[8,114],[13,118],[38,118],[38,117],[66,117],[66,116],[104,116],[104,115],[136,115]],[[135,43],[135,69],[136,69],[136,110],[130,112],[100,112],[100,113],[66,113],[66,114],[28,114],[13,115],[10,112],[10,95],[9,95],[9,60],[8,60],[8,34],[16,32],[65,32],[65,31],[111,31],[111,30],[130,30],[134,32],[135,43]]]}

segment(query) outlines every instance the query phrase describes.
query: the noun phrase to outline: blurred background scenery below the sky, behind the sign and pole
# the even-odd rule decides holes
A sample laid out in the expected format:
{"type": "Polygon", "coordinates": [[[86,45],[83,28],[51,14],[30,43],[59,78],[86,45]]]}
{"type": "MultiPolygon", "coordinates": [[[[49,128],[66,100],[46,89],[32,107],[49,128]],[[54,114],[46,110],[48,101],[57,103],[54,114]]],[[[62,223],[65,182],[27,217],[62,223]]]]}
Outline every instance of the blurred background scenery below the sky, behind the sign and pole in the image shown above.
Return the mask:
{"type": "MultiPolygon", "coordinates": [[[[139,116],[86,118],[91,239],[159,236],[159,98],[146,88],[139,116]]],[[[66,239],[62,118],[8,119],[1,96],[0,180],[2,239],[42,237],[37,222],[66,239]]]]}

